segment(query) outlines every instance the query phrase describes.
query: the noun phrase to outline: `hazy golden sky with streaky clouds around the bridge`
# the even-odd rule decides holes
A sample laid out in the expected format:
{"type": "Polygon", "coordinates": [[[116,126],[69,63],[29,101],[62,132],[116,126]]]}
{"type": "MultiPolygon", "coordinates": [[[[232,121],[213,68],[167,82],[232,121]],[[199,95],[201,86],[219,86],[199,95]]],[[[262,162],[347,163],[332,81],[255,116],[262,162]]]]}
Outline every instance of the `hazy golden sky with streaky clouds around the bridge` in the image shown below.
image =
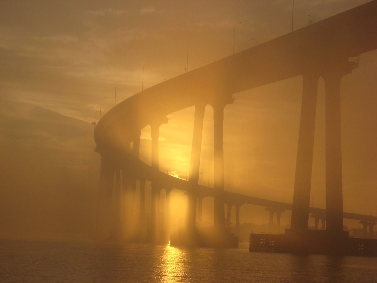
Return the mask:
{"type": "MultiPolygon", "coordinates": [[[[293,29],[365,2],[296,0],[293,29]]],[[[233,46],[239,52],[287,34],[291,26],[292,1],[285,0],[3,0],[0,237],[86,233],[100,170],[91,123],[141,91],[142,82],[148,88],[183,74],[186,65],[191,71],[233,54],[233,46]]],[[[377,201],[376,66],[376,51],[362,54],[341,88],[344,209],[367,215],[376,215],[377,201]]],[[[234,94],[224,114],[225,190],[292,201],[301,92],[302,78],[295,77],[234,94]]],[[[193,108],[168,117],[160,128],[160,170],[186,178],[193,108]]],[[[148,127],[141,137],[141,159],[149,163],[148,127]]],[[[321,78],[311,194],[311,205],[320,208],[324,162],[321,78]]],[[[199,183],[213,186],[210,106],[200,172],[199,183]]],[[[241,222],[268,220],[267,212],[253,218],[251,208],[242,209],[241,222]]]]}

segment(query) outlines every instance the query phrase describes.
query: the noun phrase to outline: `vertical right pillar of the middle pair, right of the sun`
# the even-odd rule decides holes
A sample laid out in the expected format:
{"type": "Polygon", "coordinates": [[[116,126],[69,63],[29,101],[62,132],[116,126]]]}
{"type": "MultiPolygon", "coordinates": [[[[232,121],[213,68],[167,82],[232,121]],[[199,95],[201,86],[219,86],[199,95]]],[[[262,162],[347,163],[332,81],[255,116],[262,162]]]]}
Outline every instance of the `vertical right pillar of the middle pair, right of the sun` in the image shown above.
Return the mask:
{"type": "Polygon", "coordinates": [[[225,105],[213,106],[214,119],[214,188],[215,196],[213,203],[215,229],[224,230],[224,107],[225,105]]]}

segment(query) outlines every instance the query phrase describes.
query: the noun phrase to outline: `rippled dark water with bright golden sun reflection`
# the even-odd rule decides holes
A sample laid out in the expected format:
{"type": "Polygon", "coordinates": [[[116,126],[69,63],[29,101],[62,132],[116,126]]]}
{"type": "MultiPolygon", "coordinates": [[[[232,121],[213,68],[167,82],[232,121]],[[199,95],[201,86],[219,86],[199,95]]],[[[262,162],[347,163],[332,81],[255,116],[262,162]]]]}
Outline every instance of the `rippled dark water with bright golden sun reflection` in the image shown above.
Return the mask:
{"type": "Polygon", "coordinates": [[[1,240],[0,282],[377,282],[377,258],[1,240]]]}

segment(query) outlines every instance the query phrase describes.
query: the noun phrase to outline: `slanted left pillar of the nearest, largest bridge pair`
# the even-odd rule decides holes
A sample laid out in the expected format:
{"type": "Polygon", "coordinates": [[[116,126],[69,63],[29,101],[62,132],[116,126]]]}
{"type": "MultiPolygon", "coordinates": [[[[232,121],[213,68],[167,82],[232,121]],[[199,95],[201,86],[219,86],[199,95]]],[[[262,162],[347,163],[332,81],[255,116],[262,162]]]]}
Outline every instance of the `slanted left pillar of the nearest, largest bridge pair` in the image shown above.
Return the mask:
{"type": "Polygon", "coordinates": [[[319,74],[307,72],[302,77],[301,117],[291,217],[293,231],[308,229],[319,74]]]}

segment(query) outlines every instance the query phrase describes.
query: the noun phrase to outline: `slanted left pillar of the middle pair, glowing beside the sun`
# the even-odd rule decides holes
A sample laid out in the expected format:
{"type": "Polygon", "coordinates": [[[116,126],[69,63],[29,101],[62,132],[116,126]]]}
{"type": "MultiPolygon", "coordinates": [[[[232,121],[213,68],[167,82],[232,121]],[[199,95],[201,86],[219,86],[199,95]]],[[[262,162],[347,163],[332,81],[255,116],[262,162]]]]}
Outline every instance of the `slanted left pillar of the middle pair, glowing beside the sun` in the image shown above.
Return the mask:
{"type": "Polygon", "coordinates": [[[186,225],[187,231],[191,232],[195,229],[196,216],[196,189],[199,183],[199,165],[200,154],[202,146],[202,132],[204,119],[205,105],[195,105],[194,114],[194,130],[192,135],[190,172],[189,172],[189,186],[190,191],[187,192],[187,206],[186,206],[186,225]]]}

